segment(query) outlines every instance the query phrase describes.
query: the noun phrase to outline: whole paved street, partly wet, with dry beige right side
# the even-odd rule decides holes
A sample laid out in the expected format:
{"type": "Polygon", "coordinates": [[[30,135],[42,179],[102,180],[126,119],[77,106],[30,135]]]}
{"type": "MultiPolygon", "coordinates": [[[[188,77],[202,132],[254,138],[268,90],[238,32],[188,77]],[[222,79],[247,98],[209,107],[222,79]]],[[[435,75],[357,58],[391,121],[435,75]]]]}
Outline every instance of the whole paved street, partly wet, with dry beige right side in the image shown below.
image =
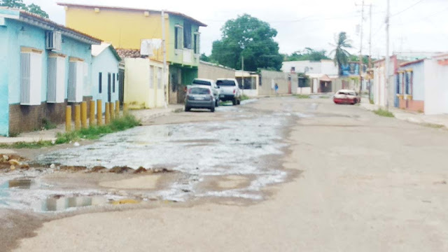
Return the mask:
{"type": "Polygon", "coordinates": [[[0,237],[28,237],[9,248],[448,251],[445,129],[295,97],[172,113],[143,125],[36,160],[172,172],[34,174],[45,185],[29,189],[34,198],[8,191],[22,197],[13,204],[3,196],[25,209],[0,210],[0,221],[10,216],[0,237]],[[27,207],[56,193],[141,203],[55,214],[27,207]]]}

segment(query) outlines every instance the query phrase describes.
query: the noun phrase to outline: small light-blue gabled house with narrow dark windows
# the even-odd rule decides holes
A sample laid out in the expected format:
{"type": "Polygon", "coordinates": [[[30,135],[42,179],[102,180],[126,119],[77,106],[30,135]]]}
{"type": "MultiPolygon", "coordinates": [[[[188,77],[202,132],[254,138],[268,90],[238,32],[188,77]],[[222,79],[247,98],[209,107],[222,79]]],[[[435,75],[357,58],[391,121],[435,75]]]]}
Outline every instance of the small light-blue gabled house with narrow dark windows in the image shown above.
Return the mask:
{"type": "MultiPolygon", "coordinates": [[[[92,96],[102,100],[103,112],[106,102],[116,102],[120,99],[118,64],[121,58],[110,43],[92,45],[92,96]]],[[[123,73],[122,73],[123,74],[123,73]]]]}

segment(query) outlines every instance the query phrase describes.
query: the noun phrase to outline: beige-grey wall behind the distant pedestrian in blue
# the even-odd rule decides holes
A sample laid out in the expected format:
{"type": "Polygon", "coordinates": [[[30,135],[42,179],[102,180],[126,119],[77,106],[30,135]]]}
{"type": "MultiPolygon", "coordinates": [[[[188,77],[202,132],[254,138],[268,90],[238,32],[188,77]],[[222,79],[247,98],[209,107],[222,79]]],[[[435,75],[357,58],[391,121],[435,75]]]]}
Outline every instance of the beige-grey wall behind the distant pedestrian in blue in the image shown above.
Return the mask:
{"type": "Polygon", "coordinates": [[[288,73],[262,70],[261,82],[258,87],[258,95],[275,94],[275,83],[279,85],[279,94],[288,94],[288,73]]]}

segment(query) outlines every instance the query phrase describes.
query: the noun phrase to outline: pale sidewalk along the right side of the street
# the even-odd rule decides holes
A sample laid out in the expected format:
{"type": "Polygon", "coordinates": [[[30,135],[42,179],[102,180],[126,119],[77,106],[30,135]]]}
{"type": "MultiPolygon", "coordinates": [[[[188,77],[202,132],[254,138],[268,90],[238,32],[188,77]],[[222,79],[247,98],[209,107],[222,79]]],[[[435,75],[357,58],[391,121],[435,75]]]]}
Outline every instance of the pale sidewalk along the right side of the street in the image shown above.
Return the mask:
{"type": "MultiPolygon", "coordinates": [[[[370,104],[367,98],[361,100],[360,106],[369,111],[380,109],[380,106],[370,104]]],[[[395,116],[395,118],[397,118],[398,120],[405,120],[409,123],[417,123],[421,125],[434,125],[448,128],[448,115],[427,116],[423,113],[405,111],[402,109],[397,109],[395,107],[390,107],[389,111],[391,111],[393,113],[393,116],[395,116]]]]}

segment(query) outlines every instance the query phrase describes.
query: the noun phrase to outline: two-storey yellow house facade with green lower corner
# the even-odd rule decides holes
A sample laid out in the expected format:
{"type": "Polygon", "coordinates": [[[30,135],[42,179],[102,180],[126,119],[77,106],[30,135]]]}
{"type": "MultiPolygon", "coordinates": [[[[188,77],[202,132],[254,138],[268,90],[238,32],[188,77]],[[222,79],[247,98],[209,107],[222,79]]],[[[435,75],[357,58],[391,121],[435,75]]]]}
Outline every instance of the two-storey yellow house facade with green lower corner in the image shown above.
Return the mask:
{"type": "MultiPolygon", "coordinates": [[[[183,86],[197,78],[200,27],[205,27],[204,23],[172,11],[166,11],[162,17],[159,10],[69,3],[59,5],[65,8],[68,27],[95,34],[120,49],[146,51],[148,44],[142,50],[144,41],[161,40],[162,26],[165,26],[166,57],[169,63],[168,99],[170,103],[183,102],[183,86]]],[[[150,43],[149,46],[147,57],[163,62],[162,46],[157,43],[150,43]]],[[[145,56],[143,53],[141,55],[145,56]]]]}

